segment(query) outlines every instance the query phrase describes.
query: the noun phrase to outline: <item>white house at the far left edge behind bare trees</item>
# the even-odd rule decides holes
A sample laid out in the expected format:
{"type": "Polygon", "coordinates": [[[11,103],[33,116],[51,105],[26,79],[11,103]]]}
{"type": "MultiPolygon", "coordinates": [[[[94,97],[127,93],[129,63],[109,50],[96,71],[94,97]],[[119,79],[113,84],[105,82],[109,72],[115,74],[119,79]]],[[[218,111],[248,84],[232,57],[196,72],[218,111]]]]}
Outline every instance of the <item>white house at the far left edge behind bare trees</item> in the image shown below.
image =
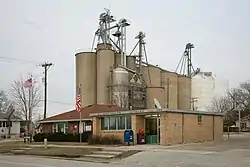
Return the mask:
{"type": "MultiPolygon", "coordinates": [[[[10,135],[11,138],[19,138],[20,137],[20,122],[21,119],[12,116],[10,119],[10,135]]],[[[6,114],[0,113],[0,138],[8,136],[9,125],[6,114]]]]}

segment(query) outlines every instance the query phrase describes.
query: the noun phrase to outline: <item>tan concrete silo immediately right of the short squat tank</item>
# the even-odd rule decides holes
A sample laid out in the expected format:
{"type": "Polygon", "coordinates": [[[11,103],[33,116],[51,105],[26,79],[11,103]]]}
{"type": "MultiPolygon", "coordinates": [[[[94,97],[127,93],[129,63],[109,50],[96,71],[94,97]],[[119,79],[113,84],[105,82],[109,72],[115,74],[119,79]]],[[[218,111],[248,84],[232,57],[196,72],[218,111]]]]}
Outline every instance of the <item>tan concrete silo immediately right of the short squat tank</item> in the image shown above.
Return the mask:
{"type": "Polygon", "coordinates": [[[178,74],[167,70],[161,71],[162,80],[161,84],[165,89],[166,107],[177,109],[178,108],[178,74]]]}

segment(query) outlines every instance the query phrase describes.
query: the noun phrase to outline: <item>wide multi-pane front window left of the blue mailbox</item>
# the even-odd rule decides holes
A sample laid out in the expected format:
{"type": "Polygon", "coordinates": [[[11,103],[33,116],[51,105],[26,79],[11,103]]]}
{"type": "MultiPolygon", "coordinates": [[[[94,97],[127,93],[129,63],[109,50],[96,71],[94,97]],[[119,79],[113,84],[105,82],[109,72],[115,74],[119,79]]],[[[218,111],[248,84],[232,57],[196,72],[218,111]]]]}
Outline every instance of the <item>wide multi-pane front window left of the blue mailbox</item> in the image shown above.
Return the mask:
{"type": "Polygon", "coordinates": [[[124,129],[131,129],[131,116],[101,118],[101,130],[124,130],[124,129]]]}

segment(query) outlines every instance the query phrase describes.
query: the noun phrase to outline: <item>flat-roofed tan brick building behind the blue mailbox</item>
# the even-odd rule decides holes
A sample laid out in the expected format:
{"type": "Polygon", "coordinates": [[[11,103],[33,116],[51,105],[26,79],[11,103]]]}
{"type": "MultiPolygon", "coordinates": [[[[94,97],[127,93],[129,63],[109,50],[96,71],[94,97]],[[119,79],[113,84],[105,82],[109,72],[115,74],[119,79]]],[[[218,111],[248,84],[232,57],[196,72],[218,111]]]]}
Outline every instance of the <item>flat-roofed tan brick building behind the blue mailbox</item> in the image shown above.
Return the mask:
{"type": "Polygon", "coordinates": [[[93,134],[116,135],[123,139],[124,129],[137,133],[143,128],[146,140],[160,145],[220,141],[223,136],[221,113],[156,109],[91,113],[93,134]],[[124,124],[122,123],[124,122],[124,124]]]}

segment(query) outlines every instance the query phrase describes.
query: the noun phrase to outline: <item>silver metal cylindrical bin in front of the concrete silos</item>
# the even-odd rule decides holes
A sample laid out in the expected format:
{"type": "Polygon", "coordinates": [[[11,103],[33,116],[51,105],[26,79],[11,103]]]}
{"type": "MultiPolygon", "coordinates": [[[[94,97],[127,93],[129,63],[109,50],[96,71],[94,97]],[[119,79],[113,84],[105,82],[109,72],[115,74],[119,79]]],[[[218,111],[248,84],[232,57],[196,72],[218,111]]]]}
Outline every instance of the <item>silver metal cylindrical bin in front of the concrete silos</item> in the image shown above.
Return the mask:
{"type": "Polygon", "coordinates": [[[112,103],[123,108],[128,108],[128,72],[117,67],[112,76],[112,103]]]}

